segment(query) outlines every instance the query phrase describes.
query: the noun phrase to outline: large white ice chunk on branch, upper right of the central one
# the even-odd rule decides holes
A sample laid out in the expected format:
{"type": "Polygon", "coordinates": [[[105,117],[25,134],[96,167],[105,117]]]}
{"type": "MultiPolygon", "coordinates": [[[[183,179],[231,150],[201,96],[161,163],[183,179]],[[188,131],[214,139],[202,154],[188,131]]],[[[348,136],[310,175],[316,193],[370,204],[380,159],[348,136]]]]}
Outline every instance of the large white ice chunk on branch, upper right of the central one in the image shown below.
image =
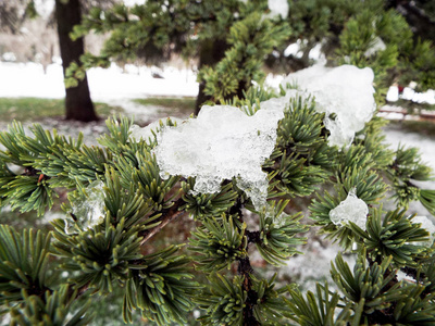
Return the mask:
{"type": "Polygon", "coordinates": [[[296,83],[301,91],[313,95],[316,110],[326,113],[330,145],[348,147],[376,109],[373,77],[369,67],[314,65],[288,75],[282,84],[296,83]]]}

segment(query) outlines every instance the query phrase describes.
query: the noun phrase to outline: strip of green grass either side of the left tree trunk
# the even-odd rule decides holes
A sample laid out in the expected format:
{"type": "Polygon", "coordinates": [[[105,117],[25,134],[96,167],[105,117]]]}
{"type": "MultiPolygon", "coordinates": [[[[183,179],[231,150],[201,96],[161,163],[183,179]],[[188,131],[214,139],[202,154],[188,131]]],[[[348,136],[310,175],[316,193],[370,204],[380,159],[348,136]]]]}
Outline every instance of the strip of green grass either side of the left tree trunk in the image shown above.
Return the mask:
{"type": "MultiPolygon", "coordinates": [[[[120,106],[105,103],[94,103],[97,114],[101,117],[123,112],[120,106]]],[[[65,101],[38,98],[0,98],[0,121],[17,120],[38,121],[45,117],[65,115],[65,101]]]]}

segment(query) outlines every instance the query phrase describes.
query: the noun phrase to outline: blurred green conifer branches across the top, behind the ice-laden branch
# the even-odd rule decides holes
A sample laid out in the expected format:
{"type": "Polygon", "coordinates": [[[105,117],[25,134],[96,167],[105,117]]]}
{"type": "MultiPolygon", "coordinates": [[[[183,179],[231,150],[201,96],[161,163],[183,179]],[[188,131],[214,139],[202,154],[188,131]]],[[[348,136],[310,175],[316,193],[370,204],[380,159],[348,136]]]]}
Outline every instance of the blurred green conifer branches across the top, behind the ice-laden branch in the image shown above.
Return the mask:
{"type": "MultiPolygon", "coordinates": [[[[383,85],[377,89],[380,96],[395,82],[407,85],[414,80],[422,88],[434,86],[433,45],[413,37],[399,5],[394,7],[390,1],[288,1],[288,10],[275,14],[274,20],[258,18],[269,12],[265,1],[149,1],[134,8],[120,4],[105,11],[95,8],[76,27],[75,36],[89,30],[112,33],[100,57],[83,57],[85,68],[136,55],[151,61],[156,57],[164,60],[171,53],[198,58],[197,110],[206,100],[220,102],[234,95],[243,97],[249,86],[241,82],[244,76],[261,84],[264,75],[259,67],[264,62],[279,73],[309,66],[313,63],[309,53],[314,47],[321,47],[330,64],[347,62],[373,67],[376,83],[383,85]],[[257,21],[252,18],[256,14],[257,21]],[[269,26],[261,27],[263,23],[269,26]],[[250,30],[250,35],[243,30],[250,30]],[[265,36],[261,42],[254,30],[265,36]],[[284,55],[288,43],[296,41],[301,45],[300,58],[284,55]],[[259,51],[250,51],[254,48],[259,51]],[[228,72],[234,77],[232,83],[223,79],[222,74],[228,72]],[[235,79],[240,83],[236,85],[235,79]]],[[[76,77],[83,72],[74,66],[72,76],[74,71],[76,77]]]]}

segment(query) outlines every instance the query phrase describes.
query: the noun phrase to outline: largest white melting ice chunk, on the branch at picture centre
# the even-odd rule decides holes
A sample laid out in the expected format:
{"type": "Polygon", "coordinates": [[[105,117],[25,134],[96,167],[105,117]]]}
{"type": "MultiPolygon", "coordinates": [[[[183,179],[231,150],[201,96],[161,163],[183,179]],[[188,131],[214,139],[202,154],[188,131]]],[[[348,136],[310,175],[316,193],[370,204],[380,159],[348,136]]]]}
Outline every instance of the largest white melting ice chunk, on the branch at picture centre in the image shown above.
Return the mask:
{"type": "Polygon", "coordinates": [[[276,110],[248,116],[234,106],[202,106],[197,118],[159,133],[154,153],[160,175],[196,177],[194,191],[207,193],[220,191],[223,179],[235,177],[259,210],[268,195],[261,165],[275,147],[283,117],[276,110]]]}

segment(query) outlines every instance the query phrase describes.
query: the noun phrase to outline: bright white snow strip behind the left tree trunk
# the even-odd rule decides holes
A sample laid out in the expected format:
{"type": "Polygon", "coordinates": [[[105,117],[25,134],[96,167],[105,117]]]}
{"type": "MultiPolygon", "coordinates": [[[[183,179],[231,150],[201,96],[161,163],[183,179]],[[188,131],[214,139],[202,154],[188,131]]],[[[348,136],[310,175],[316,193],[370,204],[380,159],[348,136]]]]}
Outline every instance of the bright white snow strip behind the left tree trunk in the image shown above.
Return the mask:
{"type": "MultiPolygon", "coordinates": [[[[108,102],[120,98],[145,98],[147,96],[196,96],[198,83],[191,70],[165,67],[159,70],[162,78],[154,78],[156,67],[124,70],[112,64],[108,70],[90,68],[87,73],[90,96],[94,101],[108,102]],[[129,72],[129,73],[124,73],[129,72]]],[[[41,64],[0,62],[0,97],[65,97],[63,73],[60,64],[51,64],[44,73],[41,64]]]]}

